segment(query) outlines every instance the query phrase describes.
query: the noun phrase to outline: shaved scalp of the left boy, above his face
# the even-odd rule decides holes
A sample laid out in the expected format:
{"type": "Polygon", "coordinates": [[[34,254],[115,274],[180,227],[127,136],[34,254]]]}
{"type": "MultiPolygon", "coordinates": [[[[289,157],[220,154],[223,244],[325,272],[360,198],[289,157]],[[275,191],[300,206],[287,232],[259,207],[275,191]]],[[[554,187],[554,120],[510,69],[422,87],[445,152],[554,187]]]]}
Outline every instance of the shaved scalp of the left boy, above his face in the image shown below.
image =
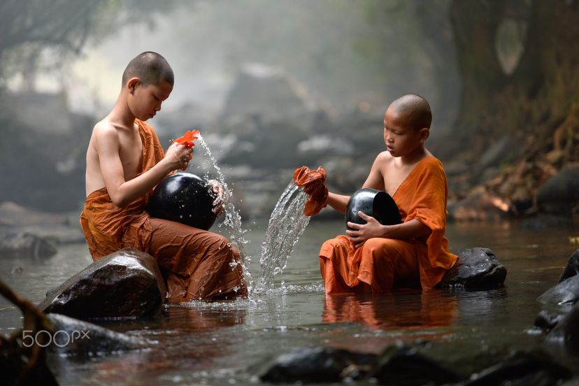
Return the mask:
{"type": "Polygon", "coordinates": [[[143,52],[137,55],[122,73],[122,85],[131,78],[139,78],[143,86],[158,85],[162,80],[173,86],[173,70],[164,57],[157,52],[143,52]]]}

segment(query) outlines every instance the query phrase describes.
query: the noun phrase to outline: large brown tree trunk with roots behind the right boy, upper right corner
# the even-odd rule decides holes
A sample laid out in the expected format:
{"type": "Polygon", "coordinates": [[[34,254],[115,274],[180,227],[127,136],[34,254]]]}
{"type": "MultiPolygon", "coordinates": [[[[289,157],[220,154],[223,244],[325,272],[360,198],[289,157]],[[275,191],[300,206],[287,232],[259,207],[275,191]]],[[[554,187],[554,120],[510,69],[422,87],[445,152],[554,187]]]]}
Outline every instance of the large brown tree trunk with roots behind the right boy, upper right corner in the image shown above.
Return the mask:
{"type": "Polygon", "coordinates": [[[470,176],[458,176],[470,182],[455,192],[459,196],[485,184],[521,213],[532,206],[547,178],[579,161],[579,4],[453,0],[450,17],[462,103],[452,137],[439,142],[436,150],[443,159],[473,166],[470,176]],[[506,6],[513,4],[530,8],[524,51],[507,76],[495,42],[506,6]],[[517,144],[520,157],[514,162],[499,157],[494,169],[483,170],[488,167],[480,162],[485,151],[503,138],[517,144]]]}

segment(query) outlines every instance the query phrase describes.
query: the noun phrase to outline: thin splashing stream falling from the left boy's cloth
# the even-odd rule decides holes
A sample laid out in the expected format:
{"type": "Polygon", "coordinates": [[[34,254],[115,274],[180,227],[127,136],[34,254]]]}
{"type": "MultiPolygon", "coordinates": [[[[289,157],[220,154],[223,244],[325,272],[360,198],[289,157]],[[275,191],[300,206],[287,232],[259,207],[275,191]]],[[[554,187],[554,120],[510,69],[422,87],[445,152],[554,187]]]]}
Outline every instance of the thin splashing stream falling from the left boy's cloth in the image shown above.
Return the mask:
{"type": "MultiPolygon", "coordinates": [[[[248,285],[248,291],[251,293],[253,280],[251,278],[251,273],[249,270],[249,264],[251,257],[245,253],[243,245],[248,243],[243,236],[247,230],[243,229],[243,224],[241,224],[241,215],[239,215],[238,210],[236,210],[234,203],[231,201],[232,191],[227,186],[225,182],[225,176],[221,171],[220,167],[217,166],[217,161],[215,157],[211,154],[211,150],[207,143],[203,140],[203,136],[199,134],[198,138],[199,144],[203,147],[204,155],[209,159],[208,162],[204,162],[203,166],[206,168],[213,167],[215,173],[217,173],[217,178],[215,178],[223,187],[223,208],[225,213],[225,219],[219,224],[219,227],[225,225],[229,228],[229,243],[239,250],[240,260],[238,262],[231,262],[231,269],[234,269],[237,264],[241,264],[243,269],[243,274],[245,276],[245,283],[248,285]]],[[[191,165],[191,164],[190,164],[191,165]]],[[[209,180],[208,171],[205,172],[203,176],[206,180],[209,180]]]]}

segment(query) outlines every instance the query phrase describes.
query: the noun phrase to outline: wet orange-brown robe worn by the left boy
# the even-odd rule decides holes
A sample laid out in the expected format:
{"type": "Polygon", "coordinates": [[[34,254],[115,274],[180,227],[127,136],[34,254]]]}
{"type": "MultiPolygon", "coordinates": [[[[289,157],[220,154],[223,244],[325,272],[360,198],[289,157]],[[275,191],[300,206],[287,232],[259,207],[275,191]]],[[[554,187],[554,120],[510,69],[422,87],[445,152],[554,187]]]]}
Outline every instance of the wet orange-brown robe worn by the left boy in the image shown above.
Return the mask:
{"type": "MultiPolygon", "coordinates": [[[[136,120],[143,143],[141,173],[164,157],[155,131],[136,120]]],[[[85,201],[80,226],[93,260],[132,247],[155,259],[167,278],[171,303],[191,299],[246,295],[238,251],[219,234],[178,222],[150,218],[145,211],[152,190],[129,203],[115,206],[106,187],[95,190],[85,201]]]]}

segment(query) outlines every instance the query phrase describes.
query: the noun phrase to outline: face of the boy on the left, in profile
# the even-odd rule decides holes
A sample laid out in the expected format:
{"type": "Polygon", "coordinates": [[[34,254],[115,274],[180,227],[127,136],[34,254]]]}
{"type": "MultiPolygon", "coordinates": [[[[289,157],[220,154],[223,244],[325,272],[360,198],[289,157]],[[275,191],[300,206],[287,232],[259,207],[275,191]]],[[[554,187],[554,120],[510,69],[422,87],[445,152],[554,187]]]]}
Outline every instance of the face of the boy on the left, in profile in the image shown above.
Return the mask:
{"type": "Polygon", "coordinates": [[[171,94],[173,86],[165,80],[161,80],[158,85],[146,85],[139,81],[136,85],[129,86],[129,108],[131,113],[139,120],[148,120],[155,117],[157,111],[161,110],[161,103],[171,94]]]}

